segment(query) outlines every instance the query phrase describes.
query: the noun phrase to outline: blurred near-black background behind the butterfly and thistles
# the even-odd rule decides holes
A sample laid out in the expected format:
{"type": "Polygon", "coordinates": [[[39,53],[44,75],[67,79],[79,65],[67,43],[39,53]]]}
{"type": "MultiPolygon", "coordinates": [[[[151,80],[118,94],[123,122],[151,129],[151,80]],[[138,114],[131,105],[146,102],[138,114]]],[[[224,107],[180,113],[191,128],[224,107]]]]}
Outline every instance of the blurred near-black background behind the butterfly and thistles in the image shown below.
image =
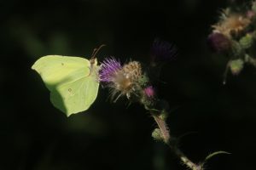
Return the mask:
{"type": "Polygon", "coordinates": [[[163,68],[160,98],[171,106],[173,136],[193,161],[216,150],[208,169],[255,169],[256,70],[247,67],[222,84],[223,56],[207,47],[211,25],[226,1],[18,1],[0,2],[0,169],[186,169],[165,144],[142,105],[113,104],[99,90],[88,111],[66,117],[32,64],[41,56],[89,57],[147,64],[155,37],[176,44],[177,59],[163,68]]]}

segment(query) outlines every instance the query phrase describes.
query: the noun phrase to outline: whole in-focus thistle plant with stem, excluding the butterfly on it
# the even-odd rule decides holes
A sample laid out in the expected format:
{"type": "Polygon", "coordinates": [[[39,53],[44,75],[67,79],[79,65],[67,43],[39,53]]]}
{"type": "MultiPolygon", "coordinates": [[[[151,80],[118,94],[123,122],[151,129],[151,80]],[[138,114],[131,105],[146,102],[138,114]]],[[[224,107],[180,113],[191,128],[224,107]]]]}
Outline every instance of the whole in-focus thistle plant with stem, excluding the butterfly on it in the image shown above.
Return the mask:
{"type": "Polygon", "coordinates": [[[153,86],[154,79],[160,75],[160,67],[177,55],[177,49],[169,42],[156,39],[150,52],[149,71],[143,69],[138,61],[130,61],[125,65],[121,65],[119,60],[113,57],[105,59],[99,71],[100,81],[109,88],[113,102],[116,102],[119,97],[123,96],[130,102],[138,102],[143,105],[157,124],[157,127],[152,132],[152,137],[167,144],[183,165],[189,169],[203,170],[204,164],[210,157],[227,152],[214,152],[207,156],[205,161],[195,163],[178,149],[177,139],[171,135],[166,124],[168,109],[163,106],[159,107],[159,103],[163,102],[163,100],[158,98],[153,86]],[[154,72],[153,80],[150,79],[152,77],[150,73],[152,72],[154,72]]]}

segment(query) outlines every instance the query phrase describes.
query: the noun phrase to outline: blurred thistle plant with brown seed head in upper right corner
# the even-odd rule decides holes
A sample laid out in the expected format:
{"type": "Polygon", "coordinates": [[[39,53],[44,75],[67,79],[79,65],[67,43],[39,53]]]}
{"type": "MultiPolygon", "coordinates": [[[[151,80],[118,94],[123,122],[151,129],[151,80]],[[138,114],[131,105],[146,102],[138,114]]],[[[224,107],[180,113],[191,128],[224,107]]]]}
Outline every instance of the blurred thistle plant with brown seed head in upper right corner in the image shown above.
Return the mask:
{"type": "Polygon", "coordinates": [[[224,84],[229,72],[237,76],[245,65],[256,67],[255,38],[256,2],[241,4],[239,1],[230,1],[230,6],[222,10],[208,36],[212,51],[228,58],[224,84]]]}

